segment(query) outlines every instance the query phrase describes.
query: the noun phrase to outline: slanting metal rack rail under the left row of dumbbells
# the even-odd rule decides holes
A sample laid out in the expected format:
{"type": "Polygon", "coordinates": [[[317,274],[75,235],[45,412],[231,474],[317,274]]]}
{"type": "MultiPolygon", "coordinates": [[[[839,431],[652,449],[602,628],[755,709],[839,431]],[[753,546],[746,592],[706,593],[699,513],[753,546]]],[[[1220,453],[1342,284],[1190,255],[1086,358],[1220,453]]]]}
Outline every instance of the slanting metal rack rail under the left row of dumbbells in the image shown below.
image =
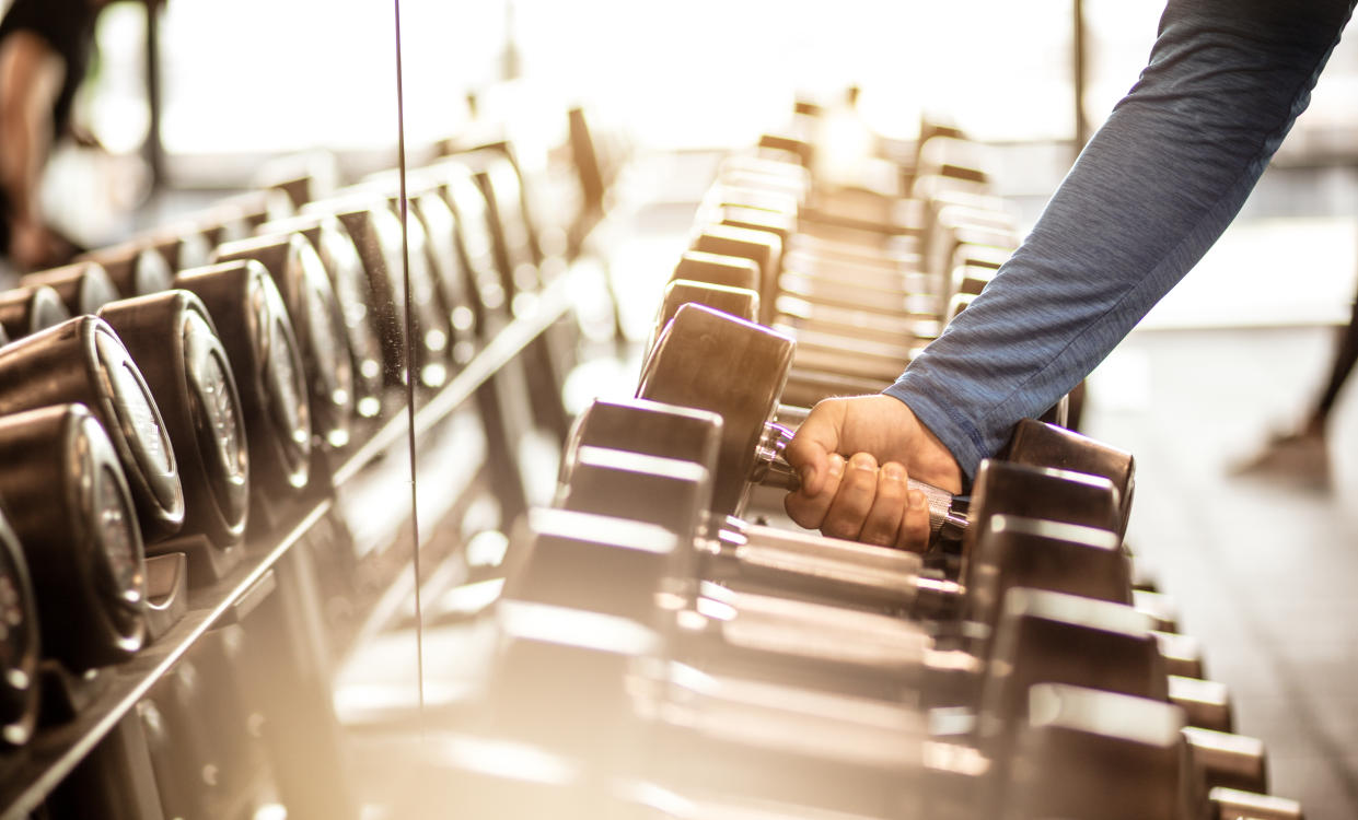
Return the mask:
{"type": "MultiPolygon", "coordinates": [[[[501,329],[443,390],[416,411],[413,421],[417,443],[436,433],[497,372],[566,315],[572,284],[569,272],[550,282],[538,295],[531,310],[501,329]]],[[[183,615],[167,634],[134,660],[99,673],[106,680],[99,684],[94,699],[77,710],[75,720],[39,730],[23,749],[0,758],[0,819],[20,819],[38,808],[196,642],[213,629],[243,620],[269,597],[278,584],[276,570],[318,523],[334,512],[337,498],[348,489],[369,481],[365,472],[384,456],[391,453],[399,458],[403,453],[407,426],[405,413],[394,415],[334,470],[330,481],[314,477],[314,489],[284,510],[281,525],[249,536],[243,561],[225,577],[209,586],[181,591],[183,615]]],[[[500,459],[496,458],[493,443],[490,447],[488,462],[494,464],[500,459]]],[[[479,471],[483,466],[477,468],[479,471]]],[[[515,513],[507,512],[511,517],[515,513]]]]}

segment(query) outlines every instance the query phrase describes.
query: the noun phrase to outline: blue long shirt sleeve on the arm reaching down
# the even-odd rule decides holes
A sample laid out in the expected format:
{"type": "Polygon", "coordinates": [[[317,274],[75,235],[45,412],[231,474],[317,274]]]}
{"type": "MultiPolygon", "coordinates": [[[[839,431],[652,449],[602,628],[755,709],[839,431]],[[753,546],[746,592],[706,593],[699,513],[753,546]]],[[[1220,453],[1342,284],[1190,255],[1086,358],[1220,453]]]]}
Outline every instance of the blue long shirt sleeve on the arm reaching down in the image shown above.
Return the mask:
{"type": "Polygon", "coordinates": [[[972,477],[1074,388],[1234,219],[1354,0],[1172,0],[1150,62],[1032,232],[884,392],[972,477]]]}

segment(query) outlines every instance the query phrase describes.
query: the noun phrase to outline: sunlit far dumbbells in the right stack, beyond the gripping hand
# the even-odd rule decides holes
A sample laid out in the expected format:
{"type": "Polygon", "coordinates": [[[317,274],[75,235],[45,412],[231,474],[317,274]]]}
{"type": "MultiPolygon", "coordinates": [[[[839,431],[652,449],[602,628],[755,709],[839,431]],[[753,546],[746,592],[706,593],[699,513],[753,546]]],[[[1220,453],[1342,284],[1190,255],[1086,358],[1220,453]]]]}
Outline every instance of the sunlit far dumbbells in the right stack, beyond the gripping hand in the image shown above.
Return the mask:
{"type": "Polygon", "coordinates": [[[970,144],[953,136],[928,140],[902,182],[922,198],[818,193],[788,140],[765,143],[722,163],[661,318],[687,300],[721,300],[793,333],[797,403],[881,390],[1008,257],[1010,217],[982,193],[985,175],[957,156],[970,144]],[[849,216],[837,210],[846,197],[849,216]],[[880,200],[883,221],[854,213],[864,198],[880,200]]]}

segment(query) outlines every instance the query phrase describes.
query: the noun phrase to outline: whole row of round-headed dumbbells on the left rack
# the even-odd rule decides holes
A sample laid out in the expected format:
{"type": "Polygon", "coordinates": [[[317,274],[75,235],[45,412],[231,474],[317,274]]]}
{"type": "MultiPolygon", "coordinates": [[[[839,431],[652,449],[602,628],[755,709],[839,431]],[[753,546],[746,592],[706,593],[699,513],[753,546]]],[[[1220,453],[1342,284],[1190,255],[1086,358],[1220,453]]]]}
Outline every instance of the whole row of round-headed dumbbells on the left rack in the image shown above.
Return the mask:
{"type": "Polygon", "coordinates": [[[394,174],[251,193],[0,293],[8,745],[33,736],[39,688],[42,721],[69,718],[91,671],[182,614],[144,557],[217,582],[247,531],[331,491],[407,387],[430,395],[528,307],[543,258],[508,148],[407,185],[411,316],[394,174]]]}

